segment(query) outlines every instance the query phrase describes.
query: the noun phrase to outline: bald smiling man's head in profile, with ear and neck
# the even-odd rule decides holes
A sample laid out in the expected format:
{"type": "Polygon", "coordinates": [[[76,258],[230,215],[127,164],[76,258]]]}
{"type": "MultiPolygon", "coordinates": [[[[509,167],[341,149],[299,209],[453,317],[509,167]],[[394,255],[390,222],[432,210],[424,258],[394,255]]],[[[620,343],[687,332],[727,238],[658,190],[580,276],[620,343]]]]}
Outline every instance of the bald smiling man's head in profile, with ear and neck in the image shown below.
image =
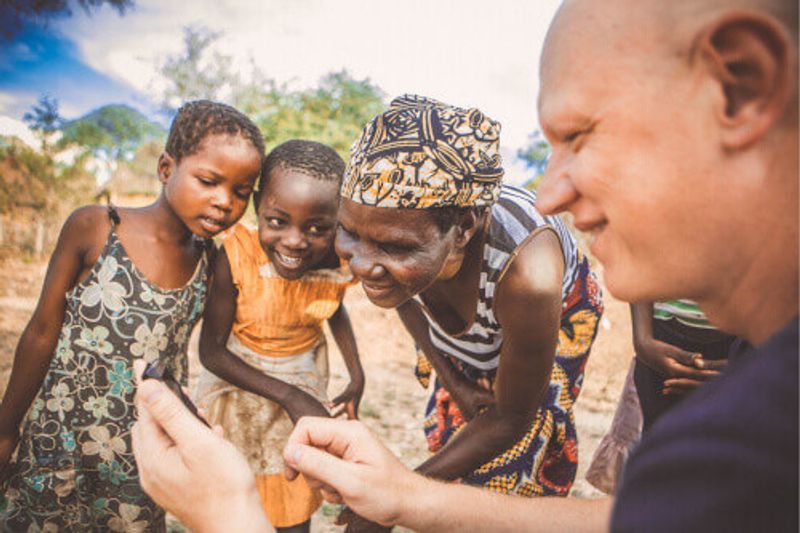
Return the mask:
{"type": "Polygon", "coordinates": [[[771,270],[796,303],[796,80],[795,1],[567,1],[542,55],[539,208],[595,232],[620,298],[713,309],[771,270]]]}

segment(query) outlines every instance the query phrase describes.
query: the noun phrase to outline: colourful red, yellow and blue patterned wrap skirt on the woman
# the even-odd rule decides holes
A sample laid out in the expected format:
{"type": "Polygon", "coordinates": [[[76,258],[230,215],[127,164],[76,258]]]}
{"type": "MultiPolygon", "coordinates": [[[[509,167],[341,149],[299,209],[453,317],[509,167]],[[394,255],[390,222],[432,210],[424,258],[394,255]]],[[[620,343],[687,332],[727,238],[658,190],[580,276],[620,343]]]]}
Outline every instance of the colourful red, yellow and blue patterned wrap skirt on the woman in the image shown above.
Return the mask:
{"type": "MultiPolygon", "coordinates": [[[[583,373],[603,314],[599,285],[584,259],[563,304],[561,326],[550,385],[527,431],[512,447],[461,481],[504,494],[566,496],[578,469],[578,446],[572,406],[583,384],[583,373]]],[[[427,387],[430,362],[417,354],[416,374],[427,387]]],[[[492,387],[496,369],[484,371],[450,357],[470,381],[492,387]]],[[[436,380],[425,410],[423,429],[431,452],[460,431],[466,422],[450,394],[436,380]]]]}

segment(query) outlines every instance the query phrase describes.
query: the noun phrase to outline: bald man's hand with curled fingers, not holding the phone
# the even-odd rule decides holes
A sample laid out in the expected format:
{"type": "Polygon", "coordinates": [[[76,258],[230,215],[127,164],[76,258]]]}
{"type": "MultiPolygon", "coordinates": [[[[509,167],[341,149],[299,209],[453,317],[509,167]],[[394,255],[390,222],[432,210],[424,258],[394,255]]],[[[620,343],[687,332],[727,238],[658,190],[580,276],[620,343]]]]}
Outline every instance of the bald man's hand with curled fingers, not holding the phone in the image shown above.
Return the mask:
{"type": "Polygon", "coordinates": [[[301,418],[283,457],[288,479],[302,472],[327,501],[386,526],[412,508],[424,482],[357,421],[301,418]]]}

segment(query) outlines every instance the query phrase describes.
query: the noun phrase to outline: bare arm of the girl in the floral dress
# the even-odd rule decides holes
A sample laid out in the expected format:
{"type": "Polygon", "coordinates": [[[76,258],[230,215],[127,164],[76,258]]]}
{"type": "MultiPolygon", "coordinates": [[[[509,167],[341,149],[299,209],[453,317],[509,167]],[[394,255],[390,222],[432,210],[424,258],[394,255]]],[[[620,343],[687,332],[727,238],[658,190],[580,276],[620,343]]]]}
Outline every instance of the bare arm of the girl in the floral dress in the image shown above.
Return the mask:
{"type": "Polygon", "coordinates": [[[96,243],[88,236],[97,235],[97,228],[103,228],[98,223],[99,216],[105,217],[105,211],[97,207],[73,213],[64,223],[50,257],[39,303],[17,344],[8,387],[0,404],[0,470],[11,458],[19,439],[19,426],[53,358],[64,321],[66,293],[87,269],[84,265],[88,263],[90,267],[97,259],[96,243]]]}

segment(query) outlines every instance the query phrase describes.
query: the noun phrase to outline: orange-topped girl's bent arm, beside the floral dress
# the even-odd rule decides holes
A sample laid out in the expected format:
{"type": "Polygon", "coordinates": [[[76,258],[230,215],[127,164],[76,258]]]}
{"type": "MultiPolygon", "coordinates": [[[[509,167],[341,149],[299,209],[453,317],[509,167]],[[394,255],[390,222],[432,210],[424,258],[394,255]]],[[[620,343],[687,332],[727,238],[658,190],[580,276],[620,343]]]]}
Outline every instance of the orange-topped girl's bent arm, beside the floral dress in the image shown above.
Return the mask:
{"type": "Polygon", "coordinates": [[[214,277],[200,332],[200,362],[228,383],[263,396],[286,409],[292,422],[302,416],[330,416],[313,396],[251,367],[226,347],[236,317],[236,288],[228,255],[217,254],[214,277]]]}

